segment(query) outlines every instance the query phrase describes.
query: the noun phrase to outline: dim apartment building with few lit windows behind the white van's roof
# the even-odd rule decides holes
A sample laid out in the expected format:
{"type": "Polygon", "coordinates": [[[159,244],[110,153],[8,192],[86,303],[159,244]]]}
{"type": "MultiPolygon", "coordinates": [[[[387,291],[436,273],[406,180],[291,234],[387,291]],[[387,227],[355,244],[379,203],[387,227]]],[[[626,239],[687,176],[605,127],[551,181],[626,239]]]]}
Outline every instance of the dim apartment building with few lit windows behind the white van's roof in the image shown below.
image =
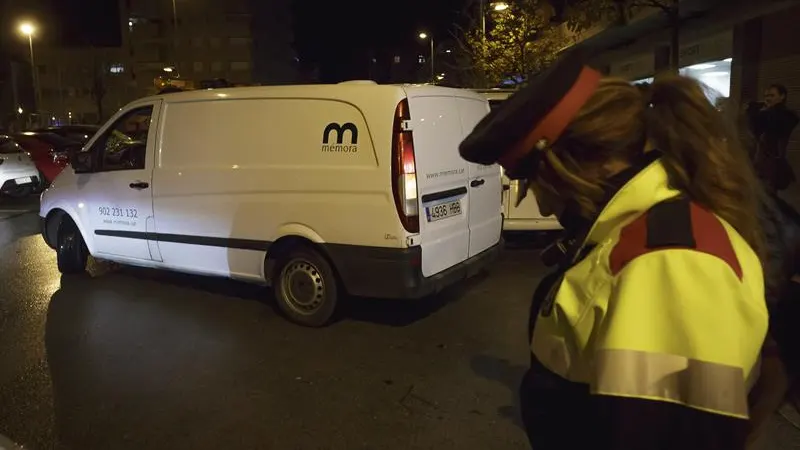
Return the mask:
{"type": "Polygon", "coordinates": [[[296,81],[291,20],[281,19],[289,0],[119,2],[117,47],[35,43],[43,122],[102,122],[131,100],[155,94],[165,80],[194,87],[216,79],[296,81]]]}

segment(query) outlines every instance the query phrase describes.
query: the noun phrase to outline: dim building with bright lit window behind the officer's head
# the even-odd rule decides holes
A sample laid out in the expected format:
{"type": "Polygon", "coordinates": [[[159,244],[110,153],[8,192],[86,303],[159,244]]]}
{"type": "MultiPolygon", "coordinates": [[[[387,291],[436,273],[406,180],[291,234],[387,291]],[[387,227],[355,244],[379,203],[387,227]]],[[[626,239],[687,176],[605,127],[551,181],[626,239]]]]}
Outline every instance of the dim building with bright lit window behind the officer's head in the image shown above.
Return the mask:
{"type": "MultiPolygon", "coordinates": [[[[679,67],[704,83],[709,98],[735,116],[766,88],[780,83],[788,105],[800,112],[800,40],[793,39],[800,3],[793,0],[683,0],[679,67]]],[[[626,27],[598,27],[578,36],[576,46],[595,55],[595,66],[631,81],[649,81],[670,67],[670,30],[660,12],[649,11],[626,27]]],[[[789,160],[800,174],[800,129],[789,143],[789,160]]],[[[787,192],[800,206],[797,183],[787,192]]]]}

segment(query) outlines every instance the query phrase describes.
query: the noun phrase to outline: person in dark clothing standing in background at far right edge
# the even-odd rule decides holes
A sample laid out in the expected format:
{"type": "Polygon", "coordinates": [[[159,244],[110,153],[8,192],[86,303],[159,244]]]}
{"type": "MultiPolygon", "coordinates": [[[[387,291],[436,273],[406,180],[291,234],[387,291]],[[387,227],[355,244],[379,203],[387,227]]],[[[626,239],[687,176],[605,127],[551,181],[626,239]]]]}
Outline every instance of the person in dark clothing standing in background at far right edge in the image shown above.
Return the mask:
{"type": "Polygon", "coordinates": [[[798,117],[787,107],[787,100],[786,87],[773,84],[764,93],[763,102],[750,103],[747,107],[755,139],[753,164],[771,192],[786,189],[795,181],[794,171],[786,159],[786,149],[798,117]]]}

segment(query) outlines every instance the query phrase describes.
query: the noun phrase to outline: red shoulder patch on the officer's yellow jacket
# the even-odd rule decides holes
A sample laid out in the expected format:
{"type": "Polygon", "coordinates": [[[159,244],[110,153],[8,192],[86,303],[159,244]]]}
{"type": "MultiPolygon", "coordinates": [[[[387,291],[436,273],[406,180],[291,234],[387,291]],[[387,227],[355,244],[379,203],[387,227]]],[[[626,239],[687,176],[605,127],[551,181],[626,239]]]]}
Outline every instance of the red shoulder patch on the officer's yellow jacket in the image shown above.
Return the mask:
{"type": "Polygon", "coordinates": [[[648,220],[668,220],[662,214],[650,214],[649,211],[623,227],[619,242],[611,250],[609,256],[611,274],[616,276],[629,262],[648,253],[668,249],[691,249],[725,261],[741,280],[742,266],[739,264],[733,244],[719,218],[696,203],[689,205],[689,212],[693,242],[686,241],[678,244],[677,241],[673,241],[674,244],[665,245],[666,242],[662,242],[664,239],[648,236],[648,230],[652,232],[653,229],[663,228],[655,224],[648,226],[648,220]],[[658,245],[654,245],[656,243],[658,245]]]}

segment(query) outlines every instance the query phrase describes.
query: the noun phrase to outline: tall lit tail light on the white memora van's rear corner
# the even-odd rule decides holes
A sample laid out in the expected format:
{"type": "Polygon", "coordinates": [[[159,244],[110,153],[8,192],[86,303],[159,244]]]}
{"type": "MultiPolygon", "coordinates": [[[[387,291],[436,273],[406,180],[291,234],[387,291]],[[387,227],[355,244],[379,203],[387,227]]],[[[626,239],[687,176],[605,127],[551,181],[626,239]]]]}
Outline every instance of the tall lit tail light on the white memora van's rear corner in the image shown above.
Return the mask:
{"type": "Polygon", "coordinates": [[[414,159],[414,139],[404,123],[411,118],[408,100],[401,101],[394,114],[392,137],[392,191],[397,214],[409,233],[419,232],[419,202],[417,197],[417,168],[414,159]]]}

